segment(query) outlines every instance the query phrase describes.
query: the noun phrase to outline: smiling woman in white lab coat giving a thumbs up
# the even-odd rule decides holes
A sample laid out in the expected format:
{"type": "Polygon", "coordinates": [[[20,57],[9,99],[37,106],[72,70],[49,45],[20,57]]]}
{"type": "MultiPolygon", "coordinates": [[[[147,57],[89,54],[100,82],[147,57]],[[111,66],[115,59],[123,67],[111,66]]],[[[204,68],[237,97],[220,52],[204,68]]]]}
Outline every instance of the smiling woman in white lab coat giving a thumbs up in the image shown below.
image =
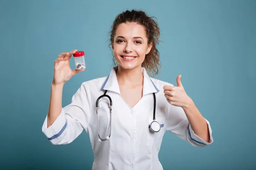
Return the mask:
{"type": "Polygon", "coordinates": [[[60,54],[55,60],[49,113],[42,127],[49,141],[68,144],[85,130],[93,147],[93,170],[163,169],[158,152],[166,130],[193,146],[211,144],[209,122],[184,91],[181,75],[175,87],[147,74],[159,71],[156,47],[159,35],[157,22],[145,12],[132,10],[119,14],[110,38],[118,66],[107,77],[83,82],[64,108],[63,85],[81,71],[71,70],[69,65],[76,50],[60,54]],[[97,127],[96,101],[104,93],[113,102],[112,120],[109,99],[103,97],[99,100],[97,127]],[[155,127],[151,125],[154,110],[155,121],[160,124],[157,132],[152,131],[155,127]],[[105,136],[108,139],[111,133],[110,138],[99,141],[98,128],[101,139],[105,136]]]}

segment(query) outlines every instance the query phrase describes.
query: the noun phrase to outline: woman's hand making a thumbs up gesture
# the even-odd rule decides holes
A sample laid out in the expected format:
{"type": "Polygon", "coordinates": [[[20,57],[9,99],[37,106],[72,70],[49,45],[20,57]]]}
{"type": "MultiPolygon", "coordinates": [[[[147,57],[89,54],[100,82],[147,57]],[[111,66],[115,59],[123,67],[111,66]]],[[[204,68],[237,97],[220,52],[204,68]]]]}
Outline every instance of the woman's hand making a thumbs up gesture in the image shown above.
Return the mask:
{"type": "Polygon", "coordinates": [[[176,81],[177,81],[177,87],[165,85],[163,86],[163,93],[166,97],[167,102],[169,102],[171,105],[179,106],[179,107],[187,107],[189,103],[192,101],[192,99],[186,94],[183,85],[180,81],[181,75],[178,75],[176,81]]]}

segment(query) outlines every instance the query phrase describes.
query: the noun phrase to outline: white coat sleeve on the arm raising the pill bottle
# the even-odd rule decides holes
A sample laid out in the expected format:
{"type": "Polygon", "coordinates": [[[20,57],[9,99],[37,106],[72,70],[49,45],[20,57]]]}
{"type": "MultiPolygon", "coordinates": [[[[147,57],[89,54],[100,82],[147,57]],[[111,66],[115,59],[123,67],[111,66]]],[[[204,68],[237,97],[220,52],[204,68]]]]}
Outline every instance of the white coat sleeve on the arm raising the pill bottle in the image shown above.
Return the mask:
{"type": "MultiPolygon", "coordinates": [[[[48,116],[48,115],[47,115],[48,116]]],[[[90,91],[86,82],[72,97],[72,102],[61,109],[58,118],[47,128],[47,117],[42,131],[52,144],[69,144],[87,127],[91,117],[90,91]]]]}

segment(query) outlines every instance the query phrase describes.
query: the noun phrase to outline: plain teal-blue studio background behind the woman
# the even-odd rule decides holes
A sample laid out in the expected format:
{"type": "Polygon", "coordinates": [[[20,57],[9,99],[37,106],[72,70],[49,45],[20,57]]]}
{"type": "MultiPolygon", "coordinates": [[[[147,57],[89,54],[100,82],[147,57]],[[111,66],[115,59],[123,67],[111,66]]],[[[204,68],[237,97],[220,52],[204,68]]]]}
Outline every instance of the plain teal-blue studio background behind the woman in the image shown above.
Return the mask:
{"type": "MultiPolygon", "coordinates": [[[[167,132],[163,168],[256,168],[255,0],[1,0],[0,169],[91,169],[93,152],[83,132],[52,145],[41,131],[48,112],[54,60],[85,52],[85,71],[64,85],[63,106],[81,83],[112,68],[110,26],[126,9],[157,17],[163,41],[155,78],[181,82],[212,126],[214,142],[192,147],[167,132]]],[[[70,62],[75,69],[74,59],[70,62]]]]}

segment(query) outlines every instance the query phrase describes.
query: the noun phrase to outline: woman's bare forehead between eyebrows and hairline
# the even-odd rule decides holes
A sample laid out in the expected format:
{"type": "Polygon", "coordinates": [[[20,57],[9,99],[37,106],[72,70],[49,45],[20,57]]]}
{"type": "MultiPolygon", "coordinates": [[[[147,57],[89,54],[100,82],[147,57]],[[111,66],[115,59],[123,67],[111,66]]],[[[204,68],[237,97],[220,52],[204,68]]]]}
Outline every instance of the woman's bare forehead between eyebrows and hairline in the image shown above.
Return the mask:
{"type": "Polygon", "coordinates": [[[142,37],[146,38],[146,32],[144,26],[137,23],[121,23],[116,28],[116,35],[126,38],[142,37]]]}

